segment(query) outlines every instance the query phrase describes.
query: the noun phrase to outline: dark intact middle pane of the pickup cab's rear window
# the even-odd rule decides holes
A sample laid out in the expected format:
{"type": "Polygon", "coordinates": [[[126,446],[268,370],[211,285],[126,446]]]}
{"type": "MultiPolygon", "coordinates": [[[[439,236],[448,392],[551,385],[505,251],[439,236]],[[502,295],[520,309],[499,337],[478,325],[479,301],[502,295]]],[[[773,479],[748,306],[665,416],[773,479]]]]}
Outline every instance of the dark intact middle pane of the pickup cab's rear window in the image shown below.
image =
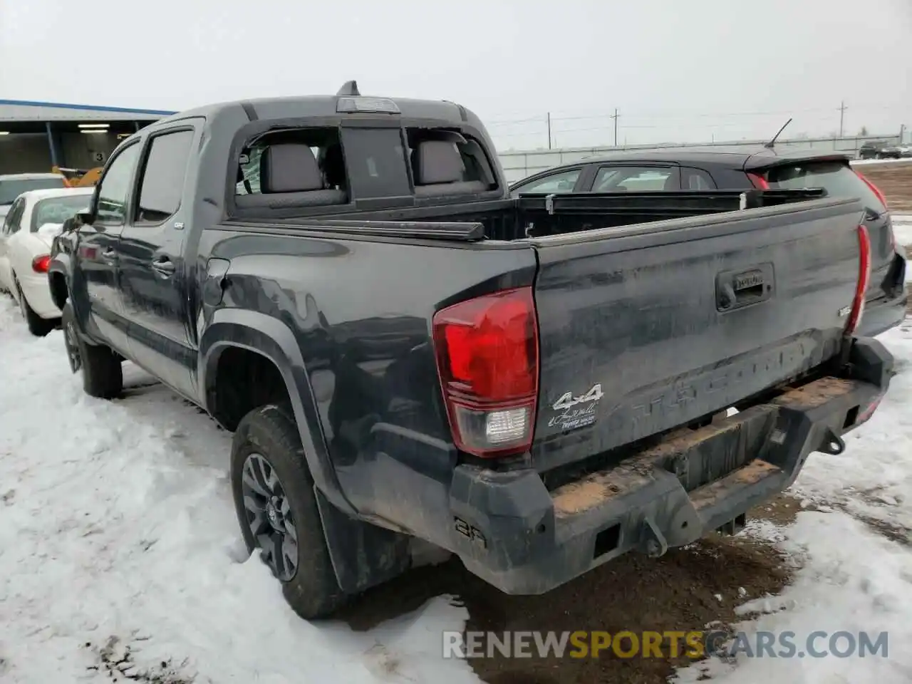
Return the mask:
{"type": "Polygon", "coordinates": [[[342,148],[356,200],[411,194],[401,130],[345,128],[342,148]]]}

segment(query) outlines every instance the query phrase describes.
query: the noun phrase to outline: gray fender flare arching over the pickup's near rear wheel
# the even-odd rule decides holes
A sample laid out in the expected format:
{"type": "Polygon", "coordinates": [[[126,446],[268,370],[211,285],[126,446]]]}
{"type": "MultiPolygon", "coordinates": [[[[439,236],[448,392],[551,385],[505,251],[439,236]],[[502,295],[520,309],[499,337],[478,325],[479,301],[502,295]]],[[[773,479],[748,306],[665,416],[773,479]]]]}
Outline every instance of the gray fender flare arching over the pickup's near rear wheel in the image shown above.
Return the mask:
{"type": "Polygon", "coordinates": [[[229,347],[240,347],[262,354],[279,369],[295,412],[307,466],[317,489],[339,510],[357,516],[358,513],[339,486],[336,469],[329,458],[316,399],[301,349],[291,328],[277,318],[258,311],[234,308],[215,311],[212,321],[200,338],[200,361],[197,368],[207,407],[212,406],[211,393],[214,390],[214,371],[218,358],[229,347]]]}

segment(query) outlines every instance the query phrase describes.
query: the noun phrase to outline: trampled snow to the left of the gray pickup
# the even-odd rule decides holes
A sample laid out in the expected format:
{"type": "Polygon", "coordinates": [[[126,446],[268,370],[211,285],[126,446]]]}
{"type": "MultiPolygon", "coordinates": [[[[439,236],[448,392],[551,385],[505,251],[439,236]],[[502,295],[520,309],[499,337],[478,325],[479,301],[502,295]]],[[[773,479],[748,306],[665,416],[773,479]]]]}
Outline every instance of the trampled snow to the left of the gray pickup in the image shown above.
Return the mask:
{"type": "Polygon", "coordinates": [[[229,435],[139,373],[88,398],[62,345],[0,296],[0,681],[110,681],[127,648],[163,682],[477,681],[440,660],[446,596],[369,633],[296,617],[244,559],[229,435]]]}

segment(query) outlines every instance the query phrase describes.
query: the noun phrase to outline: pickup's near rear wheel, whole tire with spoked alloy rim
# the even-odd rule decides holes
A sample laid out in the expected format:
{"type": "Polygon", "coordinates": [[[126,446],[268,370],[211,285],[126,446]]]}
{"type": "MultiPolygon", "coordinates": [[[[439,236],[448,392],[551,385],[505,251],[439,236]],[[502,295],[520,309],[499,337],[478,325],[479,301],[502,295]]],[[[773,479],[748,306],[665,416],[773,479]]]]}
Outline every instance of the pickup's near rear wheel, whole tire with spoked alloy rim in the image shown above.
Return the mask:
{"type": "Polygon", "coordinates": [[[306,620],[345,603],[333,572],[314,480],[295,421],[274,404],[254,409],[232,442],[234,508],[247,550],[282,583],[285,601],[306,620]]]}

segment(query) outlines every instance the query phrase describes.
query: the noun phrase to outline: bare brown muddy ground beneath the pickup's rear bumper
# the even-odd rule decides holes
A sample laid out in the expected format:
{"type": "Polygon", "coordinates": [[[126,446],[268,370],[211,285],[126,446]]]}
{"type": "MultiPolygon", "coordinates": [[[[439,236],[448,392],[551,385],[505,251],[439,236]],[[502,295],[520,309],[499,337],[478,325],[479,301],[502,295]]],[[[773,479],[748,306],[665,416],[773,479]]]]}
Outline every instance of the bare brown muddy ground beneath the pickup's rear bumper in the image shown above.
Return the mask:
{"type": "MultiPolygon", "coordinates": [[[[781,495],[753,514],[786,524],[799,510],[798,500],[781,495]]],[[[771,544],[744,535],[711,534],[658,559],[626,554],[542,596],[506,596],[453,559],[368,591],[344,617],[351,627],[366,630],[433,596],[450,594],[469,611],[467,630],[702,630],[711,623],[738,621],[734,608],[750,597],[781,591],[790,579],[782,560],[771,544]]],[[[683,657],[617,658],[606,653],[582,659],[495,654],[470,662],[489,684],[664,684],[673,668],[686,664],[683,657]]]]}

